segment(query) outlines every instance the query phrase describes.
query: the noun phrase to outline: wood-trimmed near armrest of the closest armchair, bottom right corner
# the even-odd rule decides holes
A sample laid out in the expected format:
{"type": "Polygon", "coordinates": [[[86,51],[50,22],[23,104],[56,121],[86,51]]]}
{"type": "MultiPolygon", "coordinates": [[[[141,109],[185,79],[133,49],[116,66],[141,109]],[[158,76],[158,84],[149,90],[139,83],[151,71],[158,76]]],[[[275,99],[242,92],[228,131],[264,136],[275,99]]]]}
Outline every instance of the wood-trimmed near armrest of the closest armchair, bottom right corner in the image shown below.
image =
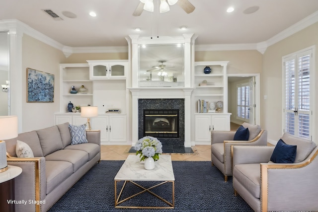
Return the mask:
{"type": "Polygon", "coordinates": [[[261,163],[263,211],[318,211],[318,147],[300,163],[261,163]]]}

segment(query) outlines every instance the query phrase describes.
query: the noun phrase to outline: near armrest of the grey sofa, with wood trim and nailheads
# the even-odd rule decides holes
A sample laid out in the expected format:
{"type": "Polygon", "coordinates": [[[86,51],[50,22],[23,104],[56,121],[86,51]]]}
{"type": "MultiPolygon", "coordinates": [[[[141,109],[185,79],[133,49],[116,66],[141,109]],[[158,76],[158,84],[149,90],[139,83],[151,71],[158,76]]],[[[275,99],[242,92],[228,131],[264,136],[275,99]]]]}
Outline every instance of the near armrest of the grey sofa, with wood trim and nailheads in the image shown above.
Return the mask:
{"type": "MultiPolygon", "coordinates": [[[[22,168],[15,178],[15,199],[26,201],[44,200],[46,197],[45,157],[7,158],[7,164],[22,168]]],[[[40,211],[40,204],[16,205],[17,211],[40,211]]]]}

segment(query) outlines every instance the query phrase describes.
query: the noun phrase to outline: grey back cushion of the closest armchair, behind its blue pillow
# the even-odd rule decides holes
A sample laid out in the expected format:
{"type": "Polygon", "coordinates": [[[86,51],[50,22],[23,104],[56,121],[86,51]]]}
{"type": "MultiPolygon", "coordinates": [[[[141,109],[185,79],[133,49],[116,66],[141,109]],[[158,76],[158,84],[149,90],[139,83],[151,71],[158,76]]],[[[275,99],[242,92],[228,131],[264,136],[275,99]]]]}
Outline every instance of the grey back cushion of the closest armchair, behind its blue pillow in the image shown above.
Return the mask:
{"type": "Polygon", "coordinates": [[[281,139],[287,144],[297,145],[295,163],[304,161],[316,147],[316,143],[313,141],[295,138],[288,134],[284,134],[281,139]]]}

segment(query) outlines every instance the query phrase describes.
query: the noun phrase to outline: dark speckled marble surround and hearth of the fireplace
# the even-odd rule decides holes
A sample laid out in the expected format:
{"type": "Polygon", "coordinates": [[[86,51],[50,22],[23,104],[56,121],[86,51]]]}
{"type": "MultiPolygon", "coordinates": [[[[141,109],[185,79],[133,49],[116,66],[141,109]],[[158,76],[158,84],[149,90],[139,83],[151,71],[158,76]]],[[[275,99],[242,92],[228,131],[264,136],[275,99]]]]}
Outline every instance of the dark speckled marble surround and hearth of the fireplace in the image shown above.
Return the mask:
{"type": "Polygon", "coordinates": [[[138,99],[138,137],[144,137],[144,109],[179,110],[179,138],[158,138],[163,153],[194,153],[184,147],[184,99],[138,99]]]}

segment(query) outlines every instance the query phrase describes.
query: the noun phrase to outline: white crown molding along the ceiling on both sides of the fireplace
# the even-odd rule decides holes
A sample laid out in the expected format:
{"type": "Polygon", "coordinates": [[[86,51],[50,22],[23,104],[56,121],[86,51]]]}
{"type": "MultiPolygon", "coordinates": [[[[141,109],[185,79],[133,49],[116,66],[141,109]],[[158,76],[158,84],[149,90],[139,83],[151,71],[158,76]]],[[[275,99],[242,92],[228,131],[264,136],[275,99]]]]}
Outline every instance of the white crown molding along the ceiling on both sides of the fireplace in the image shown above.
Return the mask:
{"type": "MultiPolygon", "coordinates": [[[[267,47],[299,32],[306,27],[318,22],[318,11],[307,16],[303,20],[295,23],[287,29],[276,34],[272,38],[259,43],[246,44],[209,44],[209,45],[195,45],[195,51],[235,51],[235,50],[257,50],[263,54],[267,47]]],[[[23,33],[42,41],[54,48],[63,51],[66,57],[74,53],[125,53],[128,52],[128,46],[110,46],[110,47],[69,47],[53,40],[52,38],[36,31],[25,23],[16,19],[0,20],[0,31],[9,30],[9,33],[23,33]]]]}

